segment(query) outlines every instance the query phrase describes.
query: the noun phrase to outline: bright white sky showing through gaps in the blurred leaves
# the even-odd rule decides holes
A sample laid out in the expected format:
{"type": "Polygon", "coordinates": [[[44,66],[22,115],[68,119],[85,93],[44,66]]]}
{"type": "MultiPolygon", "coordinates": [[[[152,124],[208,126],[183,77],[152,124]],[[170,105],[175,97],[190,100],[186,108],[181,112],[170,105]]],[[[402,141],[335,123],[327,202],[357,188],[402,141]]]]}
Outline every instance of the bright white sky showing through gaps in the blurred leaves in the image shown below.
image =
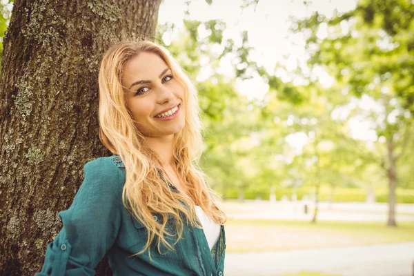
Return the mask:
{"type": "MultiPolygon", "coordinates": [[[[250,6],[242,10],[242,0],[213,0],[212,5],[208,5],[205,0],[191,0],[189,6],[189,19],[208,21],[211,19],[221,19],[226,22],[224,37],[240,41],[239,33],[242,30],[248,32],[248,41],[254,48],[251,57],[259,65],[265,66],[268,72],[275,72],[282,81],[288,81],[288,74],[284,70],[275,70],[277,62],[282,63],[288,70],[294,70],[297,66],[306,67],[306,52],[304,49],[304,39],[301,34],[292,34],[288,31],[291,26],[290,17],[304,18],[311,15],[316,10],[327,17],[337,12],[346,12],[356,6],[356,0],[313,0],[311,6],[305,6],[303,0],[260,0],[258,5],[250,6]]],[[[176,26],[183,26],[184,11],[186,10],[185,0],[164,1],[159,9],[159,23],[175,23],[176,26]]],[[[346,28],[346,26],[344,26],[346,28]]],[[[317,32],[318,37],[326,36],[326,29],[321,28],[317,32]]],[[[174,39],[174,38],[172,38],[174,39]]],[[[224,75],[232,77],[234,74],[230,61],[220,64],[224,75]]],[[[208,66],[206,70],[201,70],[199,80],[208,78],[208,66]]],[[[333,85],[334,79],[322,69],[316,72],[319,82],[324,87],[333,85]]],[[[300,80],[298,80],[300,81],[300,80]]],[[[262,99],[268,90],[268,85],[264,83],[259,75],[254,75],[252,79],[242,81],[237,79],[236,87],[240,94],[246,95],[248,99],[262,99]]],[[[336,110],[333,117],[343,117],[350,108],[364,106],[369,110],[378,110],[378,105],[369,99],[355,99],[348,106],[336,110]]],[[[361,139],[372,143],[377,140],[375,130],[371,129],[373,124],[363,116],[354,117],[348,121],[351,129],[351,136],[354,139],[361,139]]],[[[297,154],[302,152],[302,147],[309,141],[309,137],[303,132],[286,137],[286,141],[296,149],[297,154]]]]}

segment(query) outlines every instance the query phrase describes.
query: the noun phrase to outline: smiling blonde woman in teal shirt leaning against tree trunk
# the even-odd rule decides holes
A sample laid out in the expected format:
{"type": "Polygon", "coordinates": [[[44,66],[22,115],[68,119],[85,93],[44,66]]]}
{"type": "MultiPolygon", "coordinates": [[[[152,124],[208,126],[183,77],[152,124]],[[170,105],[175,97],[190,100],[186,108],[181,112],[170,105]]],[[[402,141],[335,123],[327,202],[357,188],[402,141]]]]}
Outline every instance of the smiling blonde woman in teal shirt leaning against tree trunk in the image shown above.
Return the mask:
{"type": "Polygon", "coordinates": [[[37,275],[223,275],[226,216],[197,168],[197,92],[168,51],[120,42],[99,71],[99,138],[37,275]]]}

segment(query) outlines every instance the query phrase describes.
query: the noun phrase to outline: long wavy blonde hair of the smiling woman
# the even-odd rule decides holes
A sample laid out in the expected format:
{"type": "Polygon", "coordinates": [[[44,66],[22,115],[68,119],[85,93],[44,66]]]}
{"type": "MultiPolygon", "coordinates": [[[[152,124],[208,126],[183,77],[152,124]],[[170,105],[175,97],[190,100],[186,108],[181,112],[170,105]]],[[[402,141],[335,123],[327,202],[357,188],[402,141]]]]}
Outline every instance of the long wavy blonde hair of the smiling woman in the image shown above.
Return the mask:
{"type": "Polygon", "coordinates": [[[194,203],[216,223],[226,221],[226,215],[217,204],[217,194],[206,185],[204,172],[197,165],[202,151],[199,111],[197,90],[166,48],[150,41],[122,41],[115,43],[103,56],[99,70],[99,138],[124,162],[123,204],[147,229],[146,246],[137,254],[144,253],[155,238],[160,253],[161,244],[174,250],[184,230],[184,218],[191,226],[201,227],[194,203]],[[124,67],[141,52],[152,52],[163,59],[184,88],[186,119],[184,128],[174,135],[174,159],[179,178],[194,202],[181,193],[172,193],[159,172],[159,155],[146,146],[144,135],[126,107],[121,85],[124,67]],[[161,221],[155,221],[153,213],[161,215],[161,221]],[[173,230],[166,227],[169,219],[175,221],[173,230]],[[176,237],[175,242],[170,244],[167,236],[176,237]]]}

